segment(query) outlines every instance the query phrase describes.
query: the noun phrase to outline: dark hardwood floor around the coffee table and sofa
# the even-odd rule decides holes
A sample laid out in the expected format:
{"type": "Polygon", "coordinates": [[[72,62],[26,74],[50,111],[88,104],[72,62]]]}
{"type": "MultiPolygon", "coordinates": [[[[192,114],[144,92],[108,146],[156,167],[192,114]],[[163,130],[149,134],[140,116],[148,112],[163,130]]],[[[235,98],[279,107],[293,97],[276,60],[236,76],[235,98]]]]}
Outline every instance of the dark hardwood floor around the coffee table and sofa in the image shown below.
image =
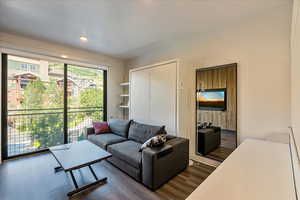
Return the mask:
{"type": "MultiPolygon", "coordinates": [[[[54,173],[57,166],[49,153],[5,161],[0,164],[1,200],[64,200],[73,189],[69,175],[54,173]]],[[[108,182],[97,185],[71,199],[78,200],[183,200],[192,193],[215,168],[195,163],[155,192],[104,161],[93,165],[99,177],[108,182]]],[[[79,184],[93,181],[88,168],[74,173],[79,184]]]]}

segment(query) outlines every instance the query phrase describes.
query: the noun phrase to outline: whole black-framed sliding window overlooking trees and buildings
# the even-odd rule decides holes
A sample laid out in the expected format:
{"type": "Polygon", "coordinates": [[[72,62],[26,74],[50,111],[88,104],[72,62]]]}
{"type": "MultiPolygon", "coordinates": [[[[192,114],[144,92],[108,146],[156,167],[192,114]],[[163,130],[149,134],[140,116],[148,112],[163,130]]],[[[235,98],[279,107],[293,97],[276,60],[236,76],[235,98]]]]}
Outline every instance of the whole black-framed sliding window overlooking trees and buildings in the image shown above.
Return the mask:
{"type": "Polygon", "coordinates": [[[106,71],[2,55],[3,157],[86,138],[106,120],[106,71]]]}

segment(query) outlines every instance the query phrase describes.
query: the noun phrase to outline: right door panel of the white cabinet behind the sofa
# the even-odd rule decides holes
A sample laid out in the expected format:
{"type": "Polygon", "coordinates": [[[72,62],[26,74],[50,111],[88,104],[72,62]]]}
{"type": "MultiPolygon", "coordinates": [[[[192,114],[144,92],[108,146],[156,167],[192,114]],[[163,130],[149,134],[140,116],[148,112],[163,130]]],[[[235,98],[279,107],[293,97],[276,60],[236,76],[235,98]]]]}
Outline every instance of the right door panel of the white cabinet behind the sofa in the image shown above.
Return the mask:
{"type": "Polygon", "coordinates": [[[172,135],[176,135],[176,65],[150,68],[149,123],[165,125],[172,135]]]}

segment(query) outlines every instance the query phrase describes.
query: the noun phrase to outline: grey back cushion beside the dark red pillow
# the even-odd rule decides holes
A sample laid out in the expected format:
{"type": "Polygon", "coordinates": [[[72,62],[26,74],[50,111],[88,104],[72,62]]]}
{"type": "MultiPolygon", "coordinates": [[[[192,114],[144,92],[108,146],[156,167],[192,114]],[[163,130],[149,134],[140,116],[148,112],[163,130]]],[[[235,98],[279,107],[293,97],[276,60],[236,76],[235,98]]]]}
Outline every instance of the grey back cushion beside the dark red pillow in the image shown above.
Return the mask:
{"type": "Polygon", "coordinates": [[[108,124],[111,129],[111,132],[127,138],[130,122],[130,120],[110,119],[108,124]]]}

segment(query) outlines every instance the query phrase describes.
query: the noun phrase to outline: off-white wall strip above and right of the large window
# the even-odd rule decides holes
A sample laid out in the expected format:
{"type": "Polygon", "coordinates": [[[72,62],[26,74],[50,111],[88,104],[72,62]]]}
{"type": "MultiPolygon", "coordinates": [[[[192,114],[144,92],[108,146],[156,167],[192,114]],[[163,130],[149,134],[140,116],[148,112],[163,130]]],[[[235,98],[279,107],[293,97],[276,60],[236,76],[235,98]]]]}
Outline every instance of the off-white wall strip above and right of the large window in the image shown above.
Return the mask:
{"type": "Polygon", "coordinates": [[[60,58],[61,55],[68,55],[68,59],[76,60],[79,62],[110,66],[108,70],[107,88],[108,118],[122,117],[123,113],[119,109],[118,105],[120,103],[120,94],[122,92],[120,83],[123,81],[124,76],[123,61],[95,52],[79,50],[71,47],[65,47],[60,44],[54,44],[0,32],[0,49],[3,47],[57,58],[60,58]]]}

